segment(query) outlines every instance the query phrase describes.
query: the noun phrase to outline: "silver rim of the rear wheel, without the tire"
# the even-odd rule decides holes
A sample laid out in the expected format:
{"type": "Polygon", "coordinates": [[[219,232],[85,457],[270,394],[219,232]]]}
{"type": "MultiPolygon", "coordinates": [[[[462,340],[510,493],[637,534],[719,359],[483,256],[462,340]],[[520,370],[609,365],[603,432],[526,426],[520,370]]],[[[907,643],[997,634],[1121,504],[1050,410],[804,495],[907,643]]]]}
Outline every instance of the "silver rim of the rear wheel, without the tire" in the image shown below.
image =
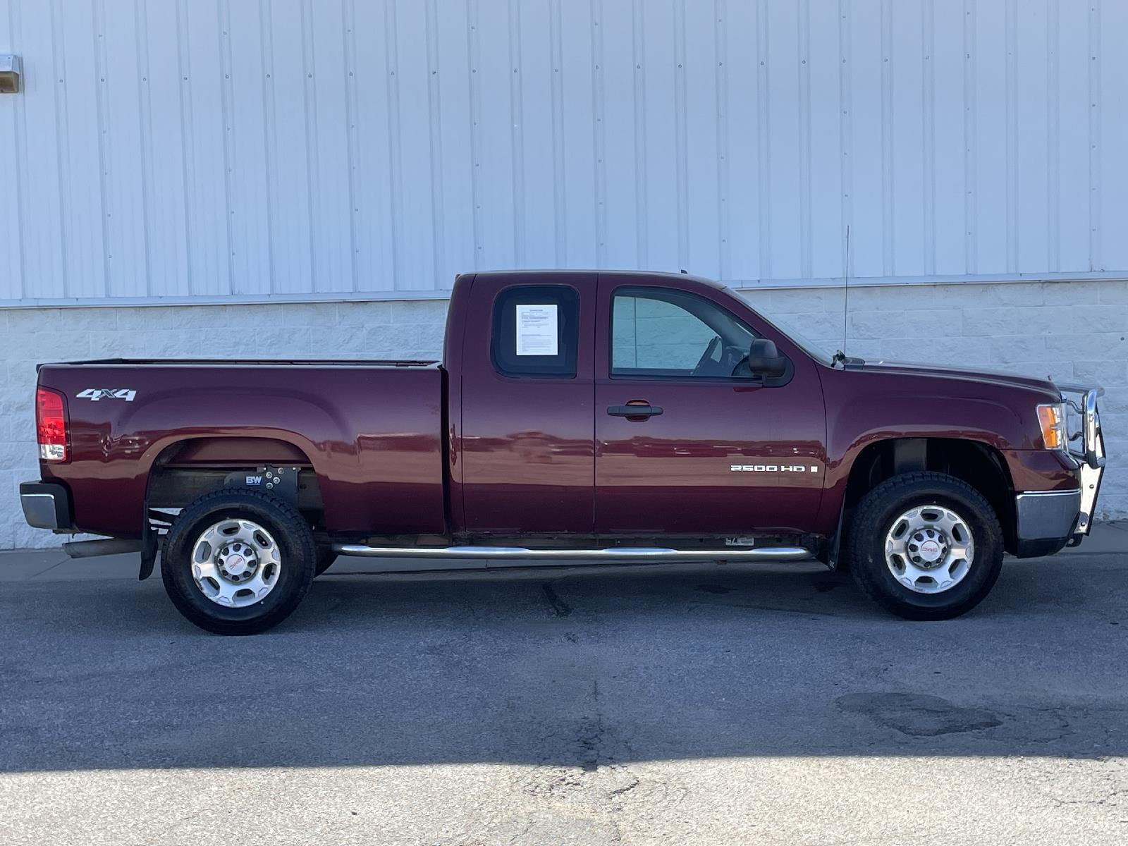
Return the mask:
{"type": "Polygon", "coordinates": [[[245,608],[266,598],[282,573],[271,534],[252,520],[213,523],[192,547],[192,579],[215,605],[245,608]]]}

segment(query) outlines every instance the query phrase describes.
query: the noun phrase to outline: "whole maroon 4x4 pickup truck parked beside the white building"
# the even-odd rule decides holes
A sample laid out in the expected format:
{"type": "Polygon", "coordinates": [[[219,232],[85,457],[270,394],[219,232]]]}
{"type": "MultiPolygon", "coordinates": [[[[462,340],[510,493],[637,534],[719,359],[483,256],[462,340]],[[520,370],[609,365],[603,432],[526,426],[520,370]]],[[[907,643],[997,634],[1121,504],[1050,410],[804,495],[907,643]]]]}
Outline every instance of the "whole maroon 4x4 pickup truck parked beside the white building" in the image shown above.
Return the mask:
{"type": "Polygon", "coordinates": [[[1089,534],[1099,389],[826,356],[680,274],[466,274],[442,362],[39,367],[32,526],[158,553],[193,623],[266,629],[387,570],[802,561],[911,619],[1089,534]]]}

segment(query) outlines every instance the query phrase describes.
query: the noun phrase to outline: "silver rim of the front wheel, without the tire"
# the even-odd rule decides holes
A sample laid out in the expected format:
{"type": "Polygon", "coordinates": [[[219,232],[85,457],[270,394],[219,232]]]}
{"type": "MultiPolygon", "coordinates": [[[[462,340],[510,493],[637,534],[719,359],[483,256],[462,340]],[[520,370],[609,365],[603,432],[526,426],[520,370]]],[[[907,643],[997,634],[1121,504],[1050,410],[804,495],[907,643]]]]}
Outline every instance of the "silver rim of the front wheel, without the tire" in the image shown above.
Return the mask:
{"type": "Polygon", "coordinates": [[[943,505],[919,505],[893,520],[885,535],[885,565],[916,593],[943,593],[963,581],[976,545],[967,521],[943,505]]]}

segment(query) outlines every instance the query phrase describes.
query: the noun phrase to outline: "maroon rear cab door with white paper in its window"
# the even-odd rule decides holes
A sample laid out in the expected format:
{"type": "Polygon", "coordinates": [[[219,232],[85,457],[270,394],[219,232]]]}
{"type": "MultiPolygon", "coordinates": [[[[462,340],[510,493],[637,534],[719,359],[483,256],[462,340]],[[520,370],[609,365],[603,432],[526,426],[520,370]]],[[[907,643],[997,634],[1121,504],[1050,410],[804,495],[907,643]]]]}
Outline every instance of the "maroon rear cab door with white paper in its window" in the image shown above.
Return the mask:
{"type": "Polygon", "coordinates": [[[593,274],[563,272],[477,274],[461,294],[451,477],[466,531],[591,535],[594,294],[593,274]]]}

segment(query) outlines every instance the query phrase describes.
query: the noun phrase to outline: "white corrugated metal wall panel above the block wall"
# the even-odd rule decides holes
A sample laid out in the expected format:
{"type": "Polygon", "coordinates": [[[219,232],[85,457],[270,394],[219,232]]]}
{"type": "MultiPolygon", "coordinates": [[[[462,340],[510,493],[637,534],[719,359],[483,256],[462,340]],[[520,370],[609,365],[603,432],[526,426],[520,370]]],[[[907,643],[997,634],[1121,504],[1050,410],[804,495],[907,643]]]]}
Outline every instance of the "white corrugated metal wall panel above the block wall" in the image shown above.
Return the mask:
{"type": "Polygon", "coordinates": [[[0,303],[1128,273],[1128,5],[0,0],[0,303]],[[1109,155],[1112,153],[1112,155],[1109,155]]]}

